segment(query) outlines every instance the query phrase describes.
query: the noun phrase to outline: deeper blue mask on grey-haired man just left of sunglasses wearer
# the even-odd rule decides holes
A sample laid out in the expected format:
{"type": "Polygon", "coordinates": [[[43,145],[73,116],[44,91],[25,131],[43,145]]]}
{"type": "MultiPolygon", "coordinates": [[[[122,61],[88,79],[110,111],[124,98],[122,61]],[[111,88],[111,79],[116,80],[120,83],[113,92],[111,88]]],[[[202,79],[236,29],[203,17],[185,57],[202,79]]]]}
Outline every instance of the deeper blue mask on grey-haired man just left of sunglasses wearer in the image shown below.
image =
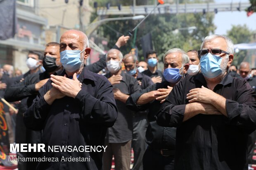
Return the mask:
{"type": "MultiPolygon", "coordinates": [[[[182,69],[183,66],[180,68],[182,69]]],[[[164,78],[167,82],[170,83],[178,83],[178,81],[181,79],[182,75],[180,75],[180,69],[178,68],[166,68],[164,70],[164,78]]]]}

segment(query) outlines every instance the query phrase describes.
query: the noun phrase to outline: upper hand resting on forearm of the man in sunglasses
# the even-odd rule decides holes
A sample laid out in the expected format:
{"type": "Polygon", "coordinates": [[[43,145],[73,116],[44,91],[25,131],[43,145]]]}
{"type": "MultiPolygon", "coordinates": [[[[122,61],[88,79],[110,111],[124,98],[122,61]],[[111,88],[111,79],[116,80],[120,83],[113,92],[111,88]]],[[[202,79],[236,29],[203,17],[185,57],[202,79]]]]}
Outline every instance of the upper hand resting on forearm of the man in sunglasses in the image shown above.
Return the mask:
{"type": "Polygon", "coordinates": [[[209,104],[216,99],[218,100],[218,97],[220,97],[218,94],[204,86],[202,86],[202,88],[194,88],[187,94],[187,100],[189,102],[203,102],[209,104]]]}

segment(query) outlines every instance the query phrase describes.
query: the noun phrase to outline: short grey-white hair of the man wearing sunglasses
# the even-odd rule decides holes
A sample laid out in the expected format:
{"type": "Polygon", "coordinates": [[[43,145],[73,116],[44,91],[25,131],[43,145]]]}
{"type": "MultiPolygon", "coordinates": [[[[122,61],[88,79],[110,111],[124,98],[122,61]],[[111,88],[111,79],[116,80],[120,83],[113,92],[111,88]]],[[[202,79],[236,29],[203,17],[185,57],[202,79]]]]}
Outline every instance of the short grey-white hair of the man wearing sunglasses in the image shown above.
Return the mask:
{"type": "Polygon", "coordinates": [[[204,47],[204,44],[206,42],[209,42],[216,38],[223,38],[226,41],[227,46],[228,46],[228,49],[226,52],[228,52],[229,54],[234,54],[234,43],[232,42],[232,40],[229,37],[227,37],[225,35],[218,35],[218,34],[208,35],[207,37],[204,38],[204,41],[201,45],[201,49],[204,47]]]}

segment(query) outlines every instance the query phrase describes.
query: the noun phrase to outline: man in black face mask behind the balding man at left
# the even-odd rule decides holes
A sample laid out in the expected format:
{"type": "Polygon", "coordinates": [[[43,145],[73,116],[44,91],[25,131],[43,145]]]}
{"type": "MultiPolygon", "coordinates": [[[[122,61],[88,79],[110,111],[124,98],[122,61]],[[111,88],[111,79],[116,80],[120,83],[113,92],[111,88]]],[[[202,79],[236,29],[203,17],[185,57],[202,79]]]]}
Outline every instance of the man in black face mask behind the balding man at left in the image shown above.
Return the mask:
{"type": "MultiPolygon", "coordinates": [[[[23,100],[27,98],[26,107],[30,107],[32,105],[33,100],[36,98],[39,89],[47,82],[50,78],[51,74],[56,74],[55,72],[61,69],[60,56],[59,56],[59,43],[50,42],[46,44],[43,58],[43,67],[45,68],[45,72],[42,73],[33,73],[27,75],[23,81],[18,84],[14,84],[9,86],[5,91],[5,99],[8,102],[14,102],[23,100]]],[[[23,113],[19,115],[19,119],[23,123],[23,113]]],[[[25,139],[25,143],[36,144],[41,141],[41,131],[34,131],[28,128],[21,128],[23,126],[18,126],[18,133],[22,134],[22,137],[25,139]]],[[[19,135],[18,135],[19,137],[19,135]]],[[[21,139],[17,139],[17,143],[19,143],[21,139]]],[[[38,158],[40,154],[36,152],[22,152],[23,157],[28,158],[38,158]]],[[[21,170],[31,169],[35,170],[38,162],[37,161],[28,161],[28,162],[20,162],[18,163],[18,167],[21,170]]]]}

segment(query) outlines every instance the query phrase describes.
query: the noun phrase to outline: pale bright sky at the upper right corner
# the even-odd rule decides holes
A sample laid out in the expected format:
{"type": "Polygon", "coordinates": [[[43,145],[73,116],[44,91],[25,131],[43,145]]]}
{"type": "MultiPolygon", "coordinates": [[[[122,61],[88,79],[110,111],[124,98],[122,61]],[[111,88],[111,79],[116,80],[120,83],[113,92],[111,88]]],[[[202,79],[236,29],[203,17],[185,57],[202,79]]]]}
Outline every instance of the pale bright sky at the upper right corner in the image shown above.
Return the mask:
{"type": "MultiPolygon", "coordinates": [[[[249,2],[249,0],[215,0],[217,3],[223,2],[249,2]]],[[[215,14],[214,24],[217,26],[215,34],[227,34],[227,30],[232,28],[232,25],[246,24],[250,30],[256,30],[256,13],[247,16],[245,11],[237,12],[218,12],[215,14]]]]}

